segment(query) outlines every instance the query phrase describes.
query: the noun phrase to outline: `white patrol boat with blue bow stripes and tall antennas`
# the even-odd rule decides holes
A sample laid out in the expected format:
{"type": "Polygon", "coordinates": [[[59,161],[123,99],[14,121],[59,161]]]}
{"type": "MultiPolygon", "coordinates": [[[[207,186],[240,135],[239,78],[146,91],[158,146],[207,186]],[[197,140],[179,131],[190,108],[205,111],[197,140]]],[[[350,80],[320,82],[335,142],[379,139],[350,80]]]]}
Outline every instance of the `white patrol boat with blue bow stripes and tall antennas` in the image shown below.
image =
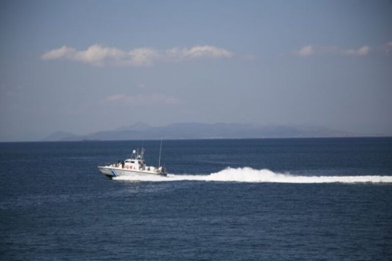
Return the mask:
{"type": "MultiPolygon", "coordinates": [[[[161,164],[161,155],[159,153],[159,165],[161,164]]],[[[108,166],[98,166],[98,169],[107,177],[112,179],[117,176],[133,176],[133,175],[160,175],[167,176],[162,166],[153,167],[145,165],[144,148],[133,150],[131,158],[125,161],[118,161],[117,163],[108,166]]]]}

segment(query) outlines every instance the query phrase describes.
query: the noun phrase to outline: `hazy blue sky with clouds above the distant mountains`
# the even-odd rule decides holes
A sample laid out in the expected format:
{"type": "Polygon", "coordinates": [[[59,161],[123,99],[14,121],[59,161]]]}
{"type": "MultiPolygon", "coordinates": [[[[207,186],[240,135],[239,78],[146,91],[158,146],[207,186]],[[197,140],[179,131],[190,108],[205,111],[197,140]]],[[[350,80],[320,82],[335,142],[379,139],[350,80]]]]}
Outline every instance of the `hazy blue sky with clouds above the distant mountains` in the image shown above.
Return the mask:
{"type": "Polygon", "coordinates": [[[137,121],[392,135],[390,1],[0,5],[0,141],[137,121]]]}

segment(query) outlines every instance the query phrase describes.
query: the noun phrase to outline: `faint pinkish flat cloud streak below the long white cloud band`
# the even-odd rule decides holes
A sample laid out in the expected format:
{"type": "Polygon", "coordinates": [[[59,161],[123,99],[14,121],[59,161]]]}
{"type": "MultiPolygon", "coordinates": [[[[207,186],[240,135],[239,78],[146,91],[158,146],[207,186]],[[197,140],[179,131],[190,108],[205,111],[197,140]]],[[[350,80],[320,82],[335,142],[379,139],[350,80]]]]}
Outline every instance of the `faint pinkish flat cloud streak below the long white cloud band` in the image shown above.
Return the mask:
{"type": "Polygon", "coordinates": [[[155,103],[175,104],[178,99],[175,97],[167,96],[164,94],[152,94],[152,95],[127,95],[127,94],[113,94],[105,97],[106,102],[117,102],[121,104],[133,104],[133,105],[148,105],[155,103]]]}

